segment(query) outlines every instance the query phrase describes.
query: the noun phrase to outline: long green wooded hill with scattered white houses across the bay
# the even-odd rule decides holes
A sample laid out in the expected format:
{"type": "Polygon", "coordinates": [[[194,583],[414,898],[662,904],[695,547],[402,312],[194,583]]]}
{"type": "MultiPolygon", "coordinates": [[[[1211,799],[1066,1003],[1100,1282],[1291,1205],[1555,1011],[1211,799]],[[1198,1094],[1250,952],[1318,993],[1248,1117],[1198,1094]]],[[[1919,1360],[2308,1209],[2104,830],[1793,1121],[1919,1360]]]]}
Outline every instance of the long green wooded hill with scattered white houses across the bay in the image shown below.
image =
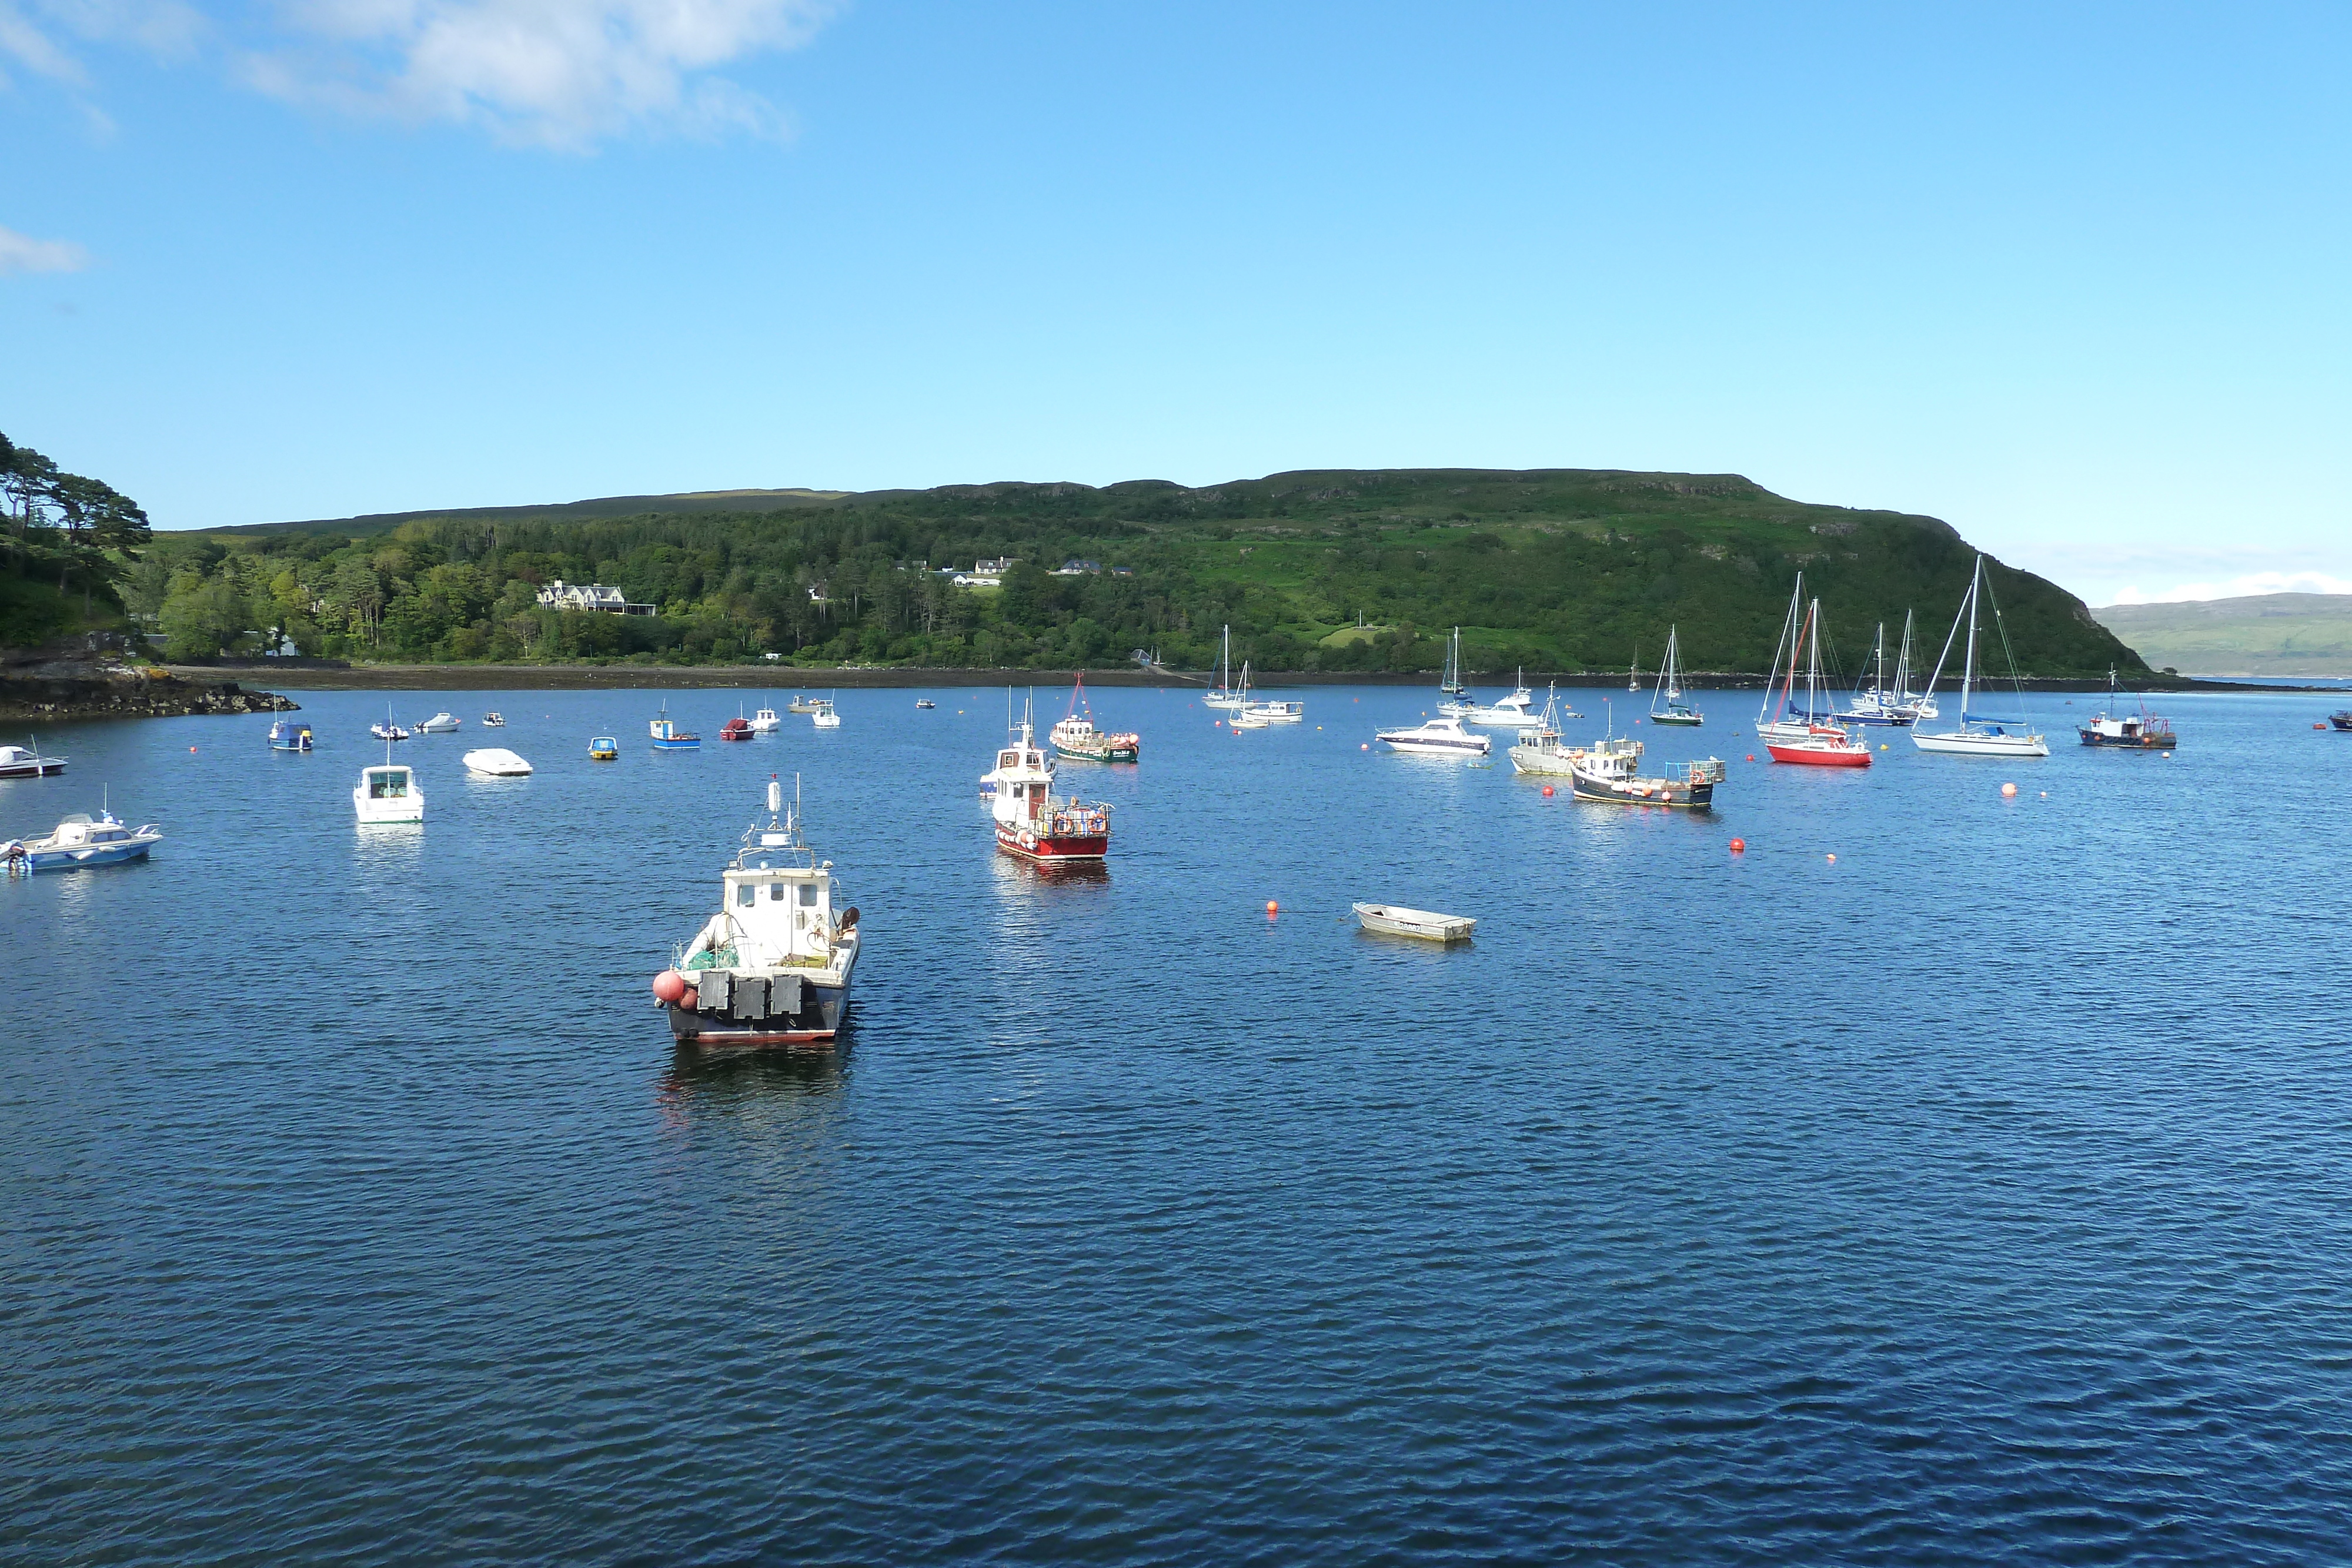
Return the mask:
{"type": "MultiPolygon", "coordinates": [[[[268,635],[358,661],[1073,668],[1148,649],[1197,670],[1232,625],[1235,661],[1268,672],[1435,670],[1461,625],[1475,670],[1578,672],[1656,663],[1677,625],[1693,670],[1762,670],[1804,571],[1851,670],[1905,609],[1933,658],[1973,559],[1931,517],[1806,505],[1736,475],[1287,473],[701,505],[158,536],[122,597],[179,656],[268,635]],[[1016,557],[1002,588],[941,574],[983,557],[1016,557]],[[1056,576],[1070,559],[1101,569],[1056,576]],[[541,609],[557,578],[659,614],[541,609]]],[[[1992,585],[2025,675],[2143,670],[2056,585],[2006,567],[1992,585]]]]}

